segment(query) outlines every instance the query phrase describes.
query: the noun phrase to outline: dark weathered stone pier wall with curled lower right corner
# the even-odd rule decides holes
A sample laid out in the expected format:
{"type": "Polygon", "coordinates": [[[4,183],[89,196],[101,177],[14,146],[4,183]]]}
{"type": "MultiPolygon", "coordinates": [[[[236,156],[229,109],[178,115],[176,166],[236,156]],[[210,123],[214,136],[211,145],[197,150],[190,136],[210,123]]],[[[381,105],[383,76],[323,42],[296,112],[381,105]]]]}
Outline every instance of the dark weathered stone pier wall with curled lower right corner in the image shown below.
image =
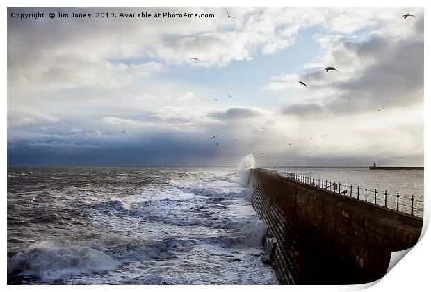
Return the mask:
{"type": "Polygon", "coordinates": [[[362,284],[387,272],[391,252],[416,244],[423,220],[251,170],[252,204],[282,284],[362,284]]]}

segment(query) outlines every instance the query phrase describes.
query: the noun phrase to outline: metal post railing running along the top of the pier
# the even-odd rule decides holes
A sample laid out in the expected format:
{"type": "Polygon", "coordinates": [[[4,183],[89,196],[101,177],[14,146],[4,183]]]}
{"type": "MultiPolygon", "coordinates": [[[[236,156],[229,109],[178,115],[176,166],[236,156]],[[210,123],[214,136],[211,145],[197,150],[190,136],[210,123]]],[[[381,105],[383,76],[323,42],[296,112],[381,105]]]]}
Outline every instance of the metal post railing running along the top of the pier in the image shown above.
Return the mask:
{"type": "Polygon", "coordinates": [[[423,201],[415,199],[413,195],[408,197],[400,195],[400,193],[396,193],[395,195],[388,193],[387,190],[382,192],[378,191],[376,188],[363,188],[359,185],[353,186],[352,184],[349,186],[348,184],[342,184],[341,182],[328,181],[327,179],[316,179],[316,177],[297,175],[293,172],[281,172],[262,168],[261,170],[286,179],[293,179],[301,184],[307,184],[314,188],[324,189],[331,193],[337,193],[345,197],[351,197],[352,199],[376,204],[378,206],[407,213],[412,216],[423,217],[423,201]]]}

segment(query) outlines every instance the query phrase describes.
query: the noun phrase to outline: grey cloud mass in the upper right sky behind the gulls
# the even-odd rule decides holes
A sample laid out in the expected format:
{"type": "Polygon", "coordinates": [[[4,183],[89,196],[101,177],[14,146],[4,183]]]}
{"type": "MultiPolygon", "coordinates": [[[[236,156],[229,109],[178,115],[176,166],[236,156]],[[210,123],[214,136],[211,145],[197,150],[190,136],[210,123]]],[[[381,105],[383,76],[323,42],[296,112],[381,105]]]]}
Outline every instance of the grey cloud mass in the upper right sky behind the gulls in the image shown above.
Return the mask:
{"type": "MultiPolygon", "coordinates": [[[[375,108],[417,106],[423,104],[423,39],[388,40],[374,36],[366,42],[344,42],[332,55],[339,72],[348,69],[349,59],[355,56],[364,60],[364,69],[352,78],[341,81],[325,81],[323,70],[305,74],[303,79],[317,83],[314,90],[333,90],[333,96],[320,104],[293,104],[284,108],[288,114],[320,114],[323,112],[351,114],[375,108]],[[370,62],[371,65],[367,65],[370,62]],[[319,84],[320,83],[320,84],[319,84]]],[[[359,68],[361,69],[361,68],[359,68]]]]}

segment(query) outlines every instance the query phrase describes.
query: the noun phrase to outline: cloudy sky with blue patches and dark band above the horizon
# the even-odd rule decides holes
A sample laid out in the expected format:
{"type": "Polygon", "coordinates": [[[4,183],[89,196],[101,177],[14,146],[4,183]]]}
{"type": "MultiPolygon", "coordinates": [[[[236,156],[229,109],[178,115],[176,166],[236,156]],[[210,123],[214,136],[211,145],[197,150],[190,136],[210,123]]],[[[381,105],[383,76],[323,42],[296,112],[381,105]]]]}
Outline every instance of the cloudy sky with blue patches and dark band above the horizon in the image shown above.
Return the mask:
{"type": "Polygon", "coordinates": [[[423,8],[97,11],[8,8],[8,165],[423,165],[423,8]]]}

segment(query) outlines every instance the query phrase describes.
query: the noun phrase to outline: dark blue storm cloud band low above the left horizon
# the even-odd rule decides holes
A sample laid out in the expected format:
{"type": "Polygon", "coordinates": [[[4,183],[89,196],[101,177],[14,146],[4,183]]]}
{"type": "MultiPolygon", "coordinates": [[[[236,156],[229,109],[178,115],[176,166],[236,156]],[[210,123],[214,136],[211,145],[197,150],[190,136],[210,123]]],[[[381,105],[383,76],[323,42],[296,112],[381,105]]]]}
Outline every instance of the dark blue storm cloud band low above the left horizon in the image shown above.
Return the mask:
{"type": "Polygon", "coordinates": [[[156,133],[130,140],[41,138],[8,143],[8,165],[211,165],[218,157],[215,143],[202,135],[156,133]],[[199,157],[199,162],[193,157],[199,157]]]}

